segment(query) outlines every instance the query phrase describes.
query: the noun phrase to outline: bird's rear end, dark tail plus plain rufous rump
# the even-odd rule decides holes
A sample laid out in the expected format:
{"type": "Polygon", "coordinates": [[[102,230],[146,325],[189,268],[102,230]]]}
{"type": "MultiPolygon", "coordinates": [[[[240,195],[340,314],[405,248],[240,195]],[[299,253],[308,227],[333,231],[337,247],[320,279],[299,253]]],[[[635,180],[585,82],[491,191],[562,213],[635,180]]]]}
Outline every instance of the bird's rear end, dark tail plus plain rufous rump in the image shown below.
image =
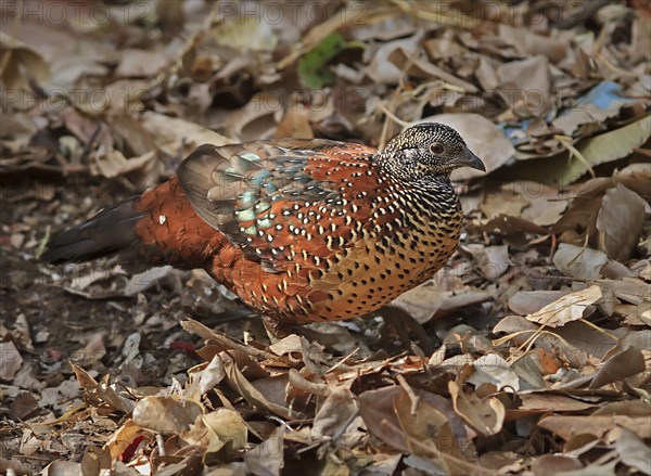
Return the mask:
{"type": "Polygon", "coordinates": [[[194,213],[175,177],[54,235],[40,259],[53,265],[114,254],[128,271],[203,267],[221,235],[194,213]]]}

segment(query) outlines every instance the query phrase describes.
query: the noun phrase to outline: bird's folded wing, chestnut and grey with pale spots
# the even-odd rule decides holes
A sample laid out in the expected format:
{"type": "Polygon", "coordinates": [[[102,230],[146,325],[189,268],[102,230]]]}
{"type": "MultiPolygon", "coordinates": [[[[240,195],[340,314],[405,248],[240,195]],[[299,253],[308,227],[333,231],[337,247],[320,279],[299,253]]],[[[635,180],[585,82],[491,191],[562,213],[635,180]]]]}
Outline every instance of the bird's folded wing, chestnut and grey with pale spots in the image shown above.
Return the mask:
{"type": "Polygon", "coordinates": [[[354,241],[358,223],[372,226],[382,202],[375,153],[327,140],[205,144],[178,177],[195,213],[272,271],[326,259],[354,241]]]}

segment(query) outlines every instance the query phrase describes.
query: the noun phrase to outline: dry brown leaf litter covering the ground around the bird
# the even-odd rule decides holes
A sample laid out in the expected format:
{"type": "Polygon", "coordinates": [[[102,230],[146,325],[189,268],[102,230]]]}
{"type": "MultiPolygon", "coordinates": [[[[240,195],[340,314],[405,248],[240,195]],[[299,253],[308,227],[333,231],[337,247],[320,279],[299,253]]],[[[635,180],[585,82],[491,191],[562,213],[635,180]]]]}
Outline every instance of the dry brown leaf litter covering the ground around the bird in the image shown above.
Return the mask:
{"type": "Polygon", "coordinates": [[[0,472],[651,474],[643,1],[75,5],[0,36],[0,472]],[[37,261],[201,143],[423,120],[489,173],[366,319],[269,345],[203,272],[37,261]]]}

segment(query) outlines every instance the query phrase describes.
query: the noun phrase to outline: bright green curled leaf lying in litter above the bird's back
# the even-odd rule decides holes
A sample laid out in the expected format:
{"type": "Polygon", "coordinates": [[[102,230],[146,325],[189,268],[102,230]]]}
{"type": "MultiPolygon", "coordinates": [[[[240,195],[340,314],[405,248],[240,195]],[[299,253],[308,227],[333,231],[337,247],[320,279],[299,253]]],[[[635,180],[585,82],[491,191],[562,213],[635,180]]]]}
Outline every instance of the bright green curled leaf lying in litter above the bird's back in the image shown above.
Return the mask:
{"type": "Polygon", "coordinates": [[[350,48],[365,48],[365,44],[360,41],[346,41],[339,33],[328,35],[298,61],[298,76],[303,83],[314,89],[333,85],[335,76],[328,64],[339,53],[350,48]]]}

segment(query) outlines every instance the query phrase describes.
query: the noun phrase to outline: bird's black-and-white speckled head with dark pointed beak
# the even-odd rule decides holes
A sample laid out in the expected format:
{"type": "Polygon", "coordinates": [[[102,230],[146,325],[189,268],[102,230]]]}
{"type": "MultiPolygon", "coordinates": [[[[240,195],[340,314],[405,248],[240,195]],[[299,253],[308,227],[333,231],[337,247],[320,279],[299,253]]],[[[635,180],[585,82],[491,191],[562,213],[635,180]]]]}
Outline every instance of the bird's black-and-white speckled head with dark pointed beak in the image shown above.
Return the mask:
{"type": "Polygon", "coordinates": [[[459,132],[445,124],[422,123],[405,129],[382,151],[380,159],[392,173],[407,179],[449,177],[456,168],[486,171],[484,163],[465,145],[459,132]]]}

